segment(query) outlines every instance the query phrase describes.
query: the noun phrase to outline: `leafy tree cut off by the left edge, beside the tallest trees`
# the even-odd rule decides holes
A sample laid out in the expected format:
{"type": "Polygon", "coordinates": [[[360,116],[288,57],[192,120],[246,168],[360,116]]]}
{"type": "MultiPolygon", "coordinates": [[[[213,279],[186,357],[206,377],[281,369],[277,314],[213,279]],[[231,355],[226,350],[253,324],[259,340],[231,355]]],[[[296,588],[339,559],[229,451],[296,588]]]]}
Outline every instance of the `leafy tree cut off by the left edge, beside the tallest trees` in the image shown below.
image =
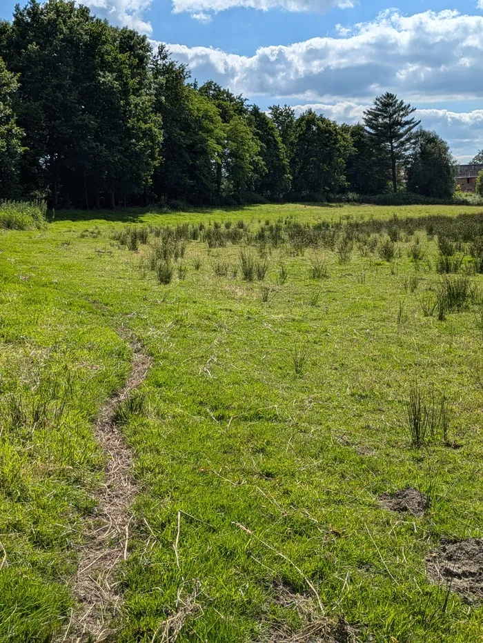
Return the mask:
{"type": "Polygon", "coordinates": [[[19,196],[19,163],[23,150],[23,131],[17,126],[12,102],[17,79],[0,58],[0,199],[19,196]]]}

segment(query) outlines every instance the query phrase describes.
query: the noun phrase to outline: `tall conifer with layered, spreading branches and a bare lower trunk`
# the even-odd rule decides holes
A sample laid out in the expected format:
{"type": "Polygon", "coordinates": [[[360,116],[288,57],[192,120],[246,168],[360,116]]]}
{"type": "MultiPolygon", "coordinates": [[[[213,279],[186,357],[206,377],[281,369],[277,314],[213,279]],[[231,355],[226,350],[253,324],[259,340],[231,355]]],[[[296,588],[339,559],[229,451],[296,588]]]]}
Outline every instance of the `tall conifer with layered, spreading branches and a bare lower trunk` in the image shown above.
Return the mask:
{"type": "Polygon", "coordinates": [[[416,108],[386,92],[377,96],[373,108],[364,112],[366,131],[391,163],[393,190],[397,192],[397,166],[404,162],[413,141],[412,132],[420,124],[411,117],[416,108]]]}

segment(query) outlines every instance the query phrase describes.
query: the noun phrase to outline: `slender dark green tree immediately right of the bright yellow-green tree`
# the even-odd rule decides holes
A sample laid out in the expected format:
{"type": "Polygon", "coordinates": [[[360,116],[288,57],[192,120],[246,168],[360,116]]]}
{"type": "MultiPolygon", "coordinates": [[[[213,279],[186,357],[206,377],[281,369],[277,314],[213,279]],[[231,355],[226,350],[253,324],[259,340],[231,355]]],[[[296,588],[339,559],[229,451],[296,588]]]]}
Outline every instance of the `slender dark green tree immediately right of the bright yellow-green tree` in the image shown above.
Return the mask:
{"type": "Polygon", "coordinates": [[[275,123],[256,105],[250,109],[248,119],[259,141],[259,167],[255,167],[253,192],[280,199],[290,190],[290,168],[286,149],[275,123]]]}

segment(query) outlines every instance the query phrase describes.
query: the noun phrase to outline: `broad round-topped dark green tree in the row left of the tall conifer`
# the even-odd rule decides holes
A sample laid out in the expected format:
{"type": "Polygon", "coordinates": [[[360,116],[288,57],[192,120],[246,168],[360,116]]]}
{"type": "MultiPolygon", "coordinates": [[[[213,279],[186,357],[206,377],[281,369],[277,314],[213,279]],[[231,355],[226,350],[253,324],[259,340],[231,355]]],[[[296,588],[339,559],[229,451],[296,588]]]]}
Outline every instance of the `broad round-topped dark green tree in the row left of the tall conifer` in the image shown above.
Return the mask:
{"type": "Polygon", "coordinates": [[[346,186],[344,168],[351,137],[334,121],[312,110],[295,123],[291,170],[296,195],[335,194],[346,186]]]}

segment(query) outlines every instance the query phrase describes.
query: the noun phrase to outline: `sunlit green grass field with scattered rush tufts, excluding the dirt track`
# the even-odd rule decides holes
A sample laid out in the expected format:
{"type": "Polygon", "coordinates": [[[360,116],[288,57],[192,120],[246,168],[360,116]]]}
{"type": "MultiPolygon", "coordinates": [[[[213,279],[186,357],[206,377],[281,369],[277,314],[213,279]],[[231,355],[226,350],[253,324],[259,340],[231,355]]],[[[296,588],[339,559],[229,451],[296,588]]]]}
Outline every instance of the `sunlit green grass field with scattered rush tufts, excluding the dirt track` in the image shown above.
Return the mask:
{"type": "Polygon", "coordinates": [[[70,584],[103,483],[92,426],[128,377],[125,326],[152,368],[123,424],[140,493],[113,640],[482,641],[482,606],[430,584],[424,564],[442,538],[483,537],[483,275],[471,273],[471,239],[455,241],[467,301],[441,320],[423,310],[445,278],[424,217],[474,215],[481,235],[478,212],[58,212],[46,228],[1,231],[0,640],[62,640],[75,611],[70,584]],[[424,223],[408,232],[394,215],[424,223]],[[281,239],[259,233],[277,221],[281,239]],[[337,226],[357,221],[367,228],[341,261],[337,226]],[[173,242],[184,256],[160,284],[155,228],[200,222],[197,239],[173,242]],[[310,244],[305,224],[337,225],[310,244]],[[126,226],[151,226],[147,243],[119,244],[126,226]],[[214,230],[235,229],[239,242],[208,247],[214,230]],[[242,252],[263,279],[244,279],[242,252]],[[405,417],[415,383],[444,393],[450,416],[445,439],[419,448],[405,417]],[[424,516],[380,504],[406,487],[430,498],[424,516]]]}

